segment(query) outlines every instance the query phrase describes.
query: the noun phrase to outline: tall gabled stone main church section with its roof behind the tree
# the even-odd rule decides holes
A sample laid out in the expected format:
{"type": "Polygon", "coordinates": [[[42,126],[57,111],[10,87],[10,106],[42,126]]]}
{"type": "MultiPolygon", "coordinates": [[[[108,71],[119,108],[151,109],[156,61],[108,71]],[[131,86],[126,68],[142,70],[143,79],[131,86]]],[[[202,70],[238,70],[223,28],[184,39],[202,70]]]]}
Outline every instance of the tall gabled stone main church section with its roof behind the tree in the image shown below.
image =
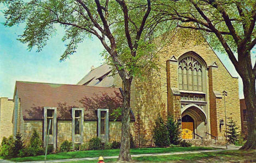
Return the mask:
{"type": "MultiPolygon", "coordinates": [[[[187,140],[210,139],[211,135],[224,140],[225,119],[228,123],[229,118],[241,131],[238,77],[229,73],[207,41],[196,44],[193,37],[192,33],[184,43],[171,35],[170,44],[159,44],[159,70],[147,74],[146,80],[133,79],[135,138],[144,140],[148,146],[153,145],[152,130],[158,114],[164,119],[173,116],[182,121],[182,138],[187,140]],[[225,100],[224,90],[228,92],[225,100]]],[[[92,69],[78,84],[122,87],[118,74],[106,75],[109,70],[107,65],[92,69]],[[101,72],[101,80],[92,79],[94,71],[101,72]]]]}

